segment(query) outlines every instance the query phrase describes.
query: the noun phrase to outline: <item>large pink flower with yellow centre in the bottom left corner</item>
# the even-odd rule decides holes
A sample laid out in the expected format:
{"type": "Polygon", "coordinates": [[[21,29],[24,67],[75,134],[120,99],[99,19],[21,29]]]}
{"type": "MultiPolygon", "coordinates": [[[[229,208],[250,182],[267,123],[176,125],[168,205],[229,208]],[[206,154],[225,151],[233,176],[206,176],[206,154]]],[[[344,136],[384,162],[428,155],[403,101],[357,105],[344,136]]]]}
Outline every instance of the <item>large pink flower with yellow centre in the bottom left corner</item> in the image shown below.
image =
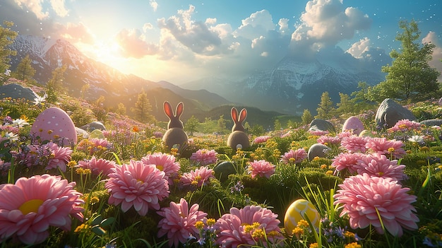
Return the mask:
{"type": "Polygon", "coordinates": [[[49,237],[49,226],[71,230],[71,217],[83,221],[83,194],[75,182],[51,175],[21,177],[0,185],[0,242],[16,237],[39,244],[49,237]]]}

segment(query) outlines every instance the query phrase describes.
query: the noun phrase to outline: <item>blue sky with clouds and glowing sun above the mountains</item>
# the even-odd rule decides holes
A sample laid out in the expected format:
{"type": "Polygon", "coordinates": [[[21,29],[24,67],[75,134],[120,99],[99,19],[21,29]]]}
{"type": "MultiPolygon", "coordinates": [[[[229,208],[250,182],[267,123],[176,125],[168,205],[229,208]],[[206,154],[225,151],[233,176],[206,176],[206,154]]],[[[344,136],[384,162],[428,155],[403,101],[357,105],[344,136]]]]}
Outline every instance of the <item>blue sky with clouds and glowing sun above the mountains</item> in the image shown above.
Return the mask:
{"type": "Polygon", "coordinates": [[[64,38],[86,56],[151,81],[242,79],[288,54],[338,46],[359,59],[398,49],[400,20],[417,20],[442,71],[440,0],[2,0],[23,35],[64,38]]]}

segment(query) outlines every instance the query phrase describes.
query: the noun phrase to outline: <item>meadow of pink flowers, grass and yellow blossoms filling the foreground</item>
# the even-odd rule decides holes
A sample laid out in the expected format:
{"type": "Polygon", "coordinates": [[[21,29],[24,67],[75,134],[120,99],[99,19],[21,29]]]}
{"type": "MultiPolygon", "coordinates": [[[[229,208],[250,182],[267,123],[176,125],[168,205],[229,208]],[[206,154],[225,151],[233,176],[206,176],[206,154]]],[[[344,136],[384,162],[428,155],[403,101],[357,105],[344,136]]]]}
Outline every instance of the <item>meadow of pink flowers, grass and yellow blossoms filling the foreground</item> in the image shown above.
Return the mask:
{"type": "Polygon", "coordinates": [[[377,129],[374,107],[356,115],[365,135],[342,117],[335,132],[299,125],[238,150],[203,134],[168,150],[165,129],[107,113],[105,131],[62,146],[30,135],[49,105],[0,103],[1,247],[442,247],[441,126],[377,129]],[[309,158],[316,143],[325,155],[309,158]]]}

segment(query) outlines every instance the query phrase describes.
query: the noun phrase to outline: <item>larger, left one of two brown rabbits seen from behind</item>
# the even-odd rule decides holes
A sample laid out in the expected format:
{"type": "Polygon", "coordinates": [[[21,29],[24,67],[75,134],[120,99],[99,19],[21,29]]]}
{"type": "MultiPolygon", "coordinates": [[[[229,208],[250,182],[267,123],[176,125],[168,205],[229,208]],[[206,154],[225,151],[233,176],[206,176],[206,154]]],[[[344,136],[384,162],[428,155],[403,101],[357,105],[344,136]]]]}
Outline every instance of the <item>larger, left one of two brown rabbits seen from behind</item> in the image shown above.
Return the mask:
{"type": "Polygon", "coordinates": [[[183,122],[179,119],[184,110],[183,102],[179,102],[177,110],[172,110],[172,106],[169,102],[164,103],[165,114],[169,117],[169,123],[167,124],[167,131],[162,136],[162,141],[168,150],[177,147],[179,149],[184,148],[187,145],[189,138],[186,132],[184,132],[183,122]]]}

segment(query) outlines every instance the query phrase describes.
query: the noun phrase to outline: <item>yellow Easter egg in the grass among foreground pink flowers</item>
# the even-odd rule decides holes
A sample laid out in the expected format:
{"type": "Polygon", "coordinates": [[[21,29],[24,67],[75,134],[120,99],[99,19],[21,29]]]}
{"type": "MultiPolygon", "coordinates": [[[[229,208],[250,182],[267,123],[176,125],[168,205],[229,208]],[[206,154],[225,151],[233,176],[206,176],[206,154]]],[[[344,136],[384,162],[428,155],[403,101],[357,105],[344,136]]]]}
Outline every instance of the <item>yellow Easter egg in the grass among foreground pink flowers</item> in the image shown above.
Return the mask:
{"type": "Polygon", "coordinates": [[[309,218],[312,225],[319,227],[319,213],[310,201],[298,199],[290,204],[284,216],[284,228],[288,235],[297,227],[299,220],[309,218]]]}

